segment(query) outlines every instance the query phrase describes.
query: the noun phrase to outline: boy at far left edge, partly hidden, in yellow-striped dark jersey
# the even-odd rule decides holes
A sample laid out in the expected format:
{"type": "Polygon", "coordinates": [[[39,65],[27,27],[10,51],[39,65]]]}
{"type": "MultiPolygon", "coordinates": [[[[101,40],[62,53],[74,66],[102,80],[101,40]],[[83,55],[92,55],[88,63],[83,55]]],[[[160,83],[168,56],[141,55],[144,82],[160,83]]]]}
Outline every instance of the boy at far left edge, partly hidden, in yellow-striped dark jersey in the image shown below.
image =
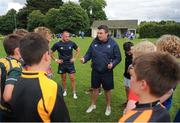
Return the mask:
{"type": "Polygon", "coordinates": [[[22,37],[11,34],[4,41],[3,46],[7,54],[6,58],[0,59],[0,80],[1,80],[1,104],[0,121],[13,121],[13,113],[9,105],[12,92],[17,78],[21,75],[22,67],[20,62],[19,44],[22,37]]]}

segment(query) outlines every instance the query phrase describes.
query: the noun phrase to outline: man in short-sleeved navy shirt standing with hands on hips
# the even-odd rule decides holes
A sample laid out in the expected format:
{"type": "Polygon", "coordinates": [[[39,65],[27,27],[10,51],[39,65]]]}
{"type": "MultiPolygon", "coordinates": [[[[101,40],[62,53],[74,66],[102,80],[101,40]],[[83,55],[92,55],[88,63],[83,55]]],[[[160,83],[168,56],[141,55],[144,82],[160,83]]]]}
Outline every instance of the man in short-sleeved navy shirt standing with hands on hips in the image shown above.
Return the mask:
{"type": "Polygon", "coordinates": [[[70,33],[67,31],[63,31],[61,39],[62,41],[59,41],[52,46],[51,56],[59,64],[58,74],[61,74],[62,85],[64,88],[63,96],[67,95],[66,73],[68,73],[73,90],[73,98],[77,99],[76,88],[75,88],[74,62],[79,56],[80,48],[74,42],[70,41],[70,33]],[[76,51],[76,54],[74,56],[73,56],[73,50],[76,51]],[[55,58],[54,56],[55,51],[58,52],[59,59],[55,58]]]}

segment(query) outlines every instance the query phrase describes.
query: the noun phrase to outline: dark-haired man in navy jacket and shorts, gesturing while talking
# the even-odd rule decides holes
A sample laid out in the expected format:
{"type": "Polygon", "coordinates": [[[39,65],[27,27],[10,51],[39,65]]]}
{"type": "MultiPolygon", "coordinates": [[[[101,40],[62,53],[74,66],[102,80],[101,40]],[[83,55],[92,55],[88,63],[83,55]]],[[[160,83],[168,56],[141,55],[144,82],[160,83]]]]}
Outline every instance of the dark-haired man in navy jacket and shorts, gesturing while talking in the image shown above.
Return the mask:
{"type": "Polygon", "coordinates": [[[82,63],[92,60],[91,87],[93,88],[91,106],[87,113],[96,109],[98,88],[102,84],[105,92],[107,107],[105,115],[111,114],[110,94],[114,88],[113,69],[121,61],[121,53],[118,44],[109,36],[108,27],[98,27],[97,37],[89,46],[85,56],[81,58],[82,63]]]}

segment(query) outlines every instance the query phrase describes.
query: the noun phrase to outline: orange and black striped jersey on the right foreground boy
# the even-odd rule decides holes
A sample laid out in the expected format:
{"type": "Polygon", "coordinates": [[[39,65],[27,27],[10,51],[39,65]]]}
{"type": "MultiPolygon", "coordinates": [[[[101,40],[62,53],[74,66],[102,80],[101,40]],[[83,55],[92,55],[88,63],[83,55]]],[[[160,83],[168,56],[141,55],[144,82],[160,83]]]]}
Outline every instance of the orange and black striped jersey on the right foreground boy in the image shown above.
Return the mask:
{"type": "Polygon", "coordinates": [[[170,122],[170,115],[159,101],[136,103],[136,108],[122,116],[119,122],[170,122]]]}

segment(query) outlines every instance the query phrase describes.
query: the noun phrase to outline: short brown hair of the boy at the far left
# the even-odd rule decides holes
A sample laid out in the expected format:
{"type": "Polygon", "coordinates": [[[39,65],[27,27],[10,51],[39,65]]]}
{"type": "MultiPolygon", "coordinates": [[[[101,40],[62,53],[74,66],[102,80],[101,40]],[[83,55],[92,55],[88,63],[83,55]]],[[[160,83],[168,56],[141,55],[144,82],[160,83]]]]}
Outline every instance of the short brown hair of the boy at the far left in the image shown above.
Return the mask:
{"type": "Polygon", "coordinates": [[[21,36],[16,34],[8,35],[3,42],[4,50],[7,55],[14,55],[14,50],[19,47],[21,36]]]}

